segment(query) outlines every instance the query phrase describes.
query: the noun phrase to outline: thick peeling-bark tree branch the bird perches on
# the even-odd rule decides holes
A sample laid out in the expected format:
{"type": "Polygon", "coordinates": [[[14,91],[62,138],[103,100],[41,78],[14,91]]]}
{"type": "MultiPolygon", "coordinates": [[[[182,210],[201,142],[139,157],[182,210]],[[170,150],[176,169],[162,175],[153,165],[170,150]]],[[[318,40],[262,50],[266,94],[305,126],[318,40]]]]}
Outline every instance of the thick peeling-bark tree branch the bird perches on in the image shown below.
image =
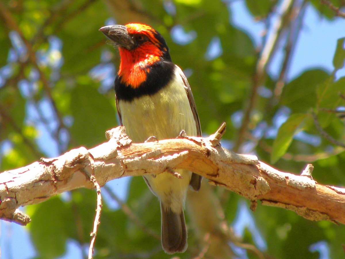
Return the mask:
{"type": "Polygon", "coordinates": [[[261,200],[264,205],[293,210],[310,220],[345,223],[344,188],[319,184],[306,175],[280,172],[258,161],[256,156],[213,146],[212,136],[179,136],[135,144],[123,127],[107,131],[106,135],[108,142],[90,150],[80,147],[53,159],[0,173],[0,217],[16,221],[13,215],[19,206],[81,187],[93,189],[83,173],[86,167],[92,167],[100,186],[125,176],[159,174],[170,167],[197,172],[210,183],[237,192],[253,204],[261,200]]]}

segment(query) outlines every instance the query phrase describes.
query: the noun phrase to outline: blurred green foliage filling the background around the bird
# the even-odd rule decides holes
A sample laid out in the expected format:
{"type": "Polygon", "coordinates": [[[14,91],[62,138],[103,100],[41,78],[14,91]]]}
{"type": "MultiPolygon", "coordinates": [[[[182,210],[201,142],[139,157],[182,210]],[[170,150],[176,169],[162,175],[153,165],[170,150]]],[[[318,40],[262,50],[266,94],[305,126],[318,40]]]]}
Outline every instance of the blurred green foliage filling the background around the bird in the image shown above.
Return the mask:
{"type": "MultiPolygon", "coordinates": [[[[243,2],[253,19],[273,26],[268,21],[282,1],[243,2]]],[[[321,18],[335,19],[334,11],[319,0],[303,1],[302,6],[293,2],[297,9],[313,8],[321,18]]],[[[336,7],[344,5],[341,0],[331,2],[336,7]]],[[[236,144],[238,136],[244,134],[238,129],[256,84],[262,46],[256,46],[252,35],[233,25],[231,3],[1,1],[0,171],[80,145],[94,146],[105,141],[104,132],[117,125],[112,81],[109,83],[107,79],[114,78],[119,65],[118,52],[98,31],[109,18],[127,23],[136,17],[136,21],[149,22],[160,31],[170,47],[172,60],[189,76],[203,133],[213,133],[225,121],[224,142],[236,144]],[[174,34],[176,28],[182,28],[183,34],[191,39],[180,41],[174,34]],[[210,54],[211,42],[219,42],[215,55],[210,54]]],[[[283,44],[288,42],[283,32],[296,26],[296,21],[282,23],[278,36],[283,44]]],[[[264,44],[265,40],[263,35],[264,44]]],[[[250,146],[246,152],[275,163],[282,171],[299,173],[307,162],[312,162],[317,181],[344,186],[343,149],[321,136],[312,116],[317,116],[331,137],[345,143],[344,112],[341,113],[345,106],[345,77],[335,79],[336,71],[344,66],[344,38],[336,45],[335,52],[329,53],[333,57],[333,71],[310,68],[293,80],[283,78],[281,94],[277,91],[278,79],[263,76],[259,86],[266,94],[256,96],[246,139],[240,146],[250,146]]],[[[275,48],[272,55],[278,50],[275,48]]],[[[226,219],[233,222],[243,199],[235,193],[217,194],[226,219]]],[[[141,178],[131,179],[125,202],[142,223],[159,234],[159,205],[141,178]]],[[[37,256],[62,256],[68,240],[75,240],[85,250],[95,207],[96,194],[92,190],[76,190],[67,194],[67,198],[57,196],[29,206],[27,212],[32,218],[29,230],[37,256]]],[[[331,258],[343,257],[343,240],[339,237],[345,236],[344,226],[311,222],[294,212],[260,205],[250,215],[267,243],[265,253],[270,256],[318,258],[318,253],[309,248],[315,242],[325,241],[331,258]]],[[[188,223],[188,215],[186,218],[188,223]]],[[[248,226],[244,241],[257,245],[253,227],[248,226]]],[[[199,252],[194,246],[197,234],[193,229],[188,237],[190,249],[179,255],[181,258],[191,258],[199,252]]],[[[104,203],[95,251],[96,258],[170,258],[162,252],[157,238],[139,227],[123,210],[111,209],[104,203]]]]}

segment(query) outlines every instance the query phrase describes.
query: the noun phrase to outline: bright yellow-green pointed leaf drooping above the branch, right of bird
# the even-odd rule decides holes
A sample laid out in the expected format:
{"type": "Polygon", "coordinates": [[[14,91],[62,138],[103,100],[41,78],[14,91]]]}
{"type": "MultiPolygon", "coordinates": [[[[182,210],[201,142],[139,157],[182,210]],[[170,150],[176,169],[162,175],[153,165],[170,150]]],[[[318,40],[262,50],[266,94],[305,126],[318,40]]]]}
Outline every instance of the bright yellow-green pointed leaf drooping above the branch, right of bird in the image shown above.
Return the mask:
{"type": "Polygon", "coordinates": [[[297,113],[291,115],[286,122],[280,126],[276,139],[273,142],[271,162],[275,163],[282,157],[292,142],[293,136],[302,130],[302,123],[307,114],[297,113]]]}

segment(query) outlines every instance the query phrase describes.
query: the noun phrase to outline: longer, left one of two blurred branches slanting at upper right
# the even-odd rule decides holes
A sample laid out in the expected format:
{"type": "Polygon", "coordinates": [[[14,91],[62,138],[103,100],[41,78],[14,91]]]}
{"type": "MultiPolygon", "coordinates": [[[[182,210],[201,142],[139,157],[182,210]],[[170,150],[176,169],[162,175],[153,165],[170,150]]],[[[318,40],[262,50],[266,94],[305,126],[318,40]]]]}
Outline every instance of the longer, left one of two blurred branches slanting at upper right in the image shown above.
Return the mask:
{"type": "Polygon", "coordinates": [[[292,10],[292,4],[294,0],[284,0],[281,6],[281,15],[277,19],[276,23],[273,25],[273,31],[270,33],[263,50],[260,54],[260,57],[257,61],[256,72],[253,76],[253,86],[250,90],[250,97],[247,102],[247,107],[245,108],[242,124],[238,131],[238,137],[236,144],[234,146],[234,151],[237,152],[245,140],[245,134],[248,131],[248,126],[250,122],[250,115],[252,114],[253,109],[256,106],[258,99],[257,89],[263,83],[265,79],[265,70],[270,60],[272,60],[274,50],[278,44],[281,33],[286,27],[286,20],[290,19],[290,12],[292,10]]]}

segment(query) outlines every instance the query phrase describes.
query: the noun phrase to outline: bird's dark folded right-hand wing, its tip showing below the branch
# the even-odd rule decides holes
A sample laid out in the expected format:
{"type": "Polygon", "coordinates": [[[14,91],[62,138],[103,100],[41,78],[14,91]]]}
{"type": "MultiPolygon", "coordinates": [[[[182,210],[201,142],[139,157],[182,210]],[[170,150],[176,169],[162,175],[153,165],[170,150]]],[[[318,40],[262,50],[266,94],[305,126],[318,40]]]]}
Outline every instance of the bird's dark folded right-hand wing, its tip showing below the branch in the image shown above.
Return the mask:
{"type": "MultiPolygon", "coordinates": [[[[180,69],[180,68],[179,68],[180,69]]],[[[200,126],[200,120],[198,116],[198,111],[196,109],[194,97],[192,90],[190,88],[190,85],[188,83],[187,77],[185,74],[182,72],[180,69],[180,76],[185,84],[185,89],[186,89],[186,94],[189,100],[190,108],[192,109],[193,115],[194,115],[194,120],[196,124],[196,132],[197,136],[201,137],[201,126],[200,126]]],[[[189,186],[194,190],[194,191],[199,191],[200,185],[201,185],[201,180],[203,180],[203,177],[201,175],[198,175],[196,173],[192,173],[192,176],[190,178],[189,186]]]]}

